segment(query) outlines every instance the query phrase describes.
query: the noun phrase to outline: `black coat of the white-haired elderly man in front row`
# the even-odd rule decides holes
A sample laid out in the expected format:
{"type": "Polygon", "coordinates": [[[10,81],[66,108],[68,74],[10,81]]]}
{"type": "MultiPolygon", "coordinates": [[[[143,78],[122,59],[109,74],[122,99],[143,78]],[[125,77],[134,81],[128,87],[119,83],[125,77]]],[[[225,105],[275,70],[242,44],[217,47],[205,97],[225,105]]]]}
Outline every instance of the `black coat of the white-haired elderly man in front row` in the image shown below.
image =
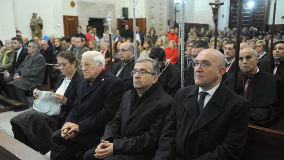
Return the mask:
{"type": "Polygon", "coordinates": [[[99,144],[105,125],[119,109],[124,90],[122,81],[107,70],[102,71],[91,86],[89,83],[86,79],[81,82],[66,122],[79,124],[80,136],[94,146],[99,144]]]}

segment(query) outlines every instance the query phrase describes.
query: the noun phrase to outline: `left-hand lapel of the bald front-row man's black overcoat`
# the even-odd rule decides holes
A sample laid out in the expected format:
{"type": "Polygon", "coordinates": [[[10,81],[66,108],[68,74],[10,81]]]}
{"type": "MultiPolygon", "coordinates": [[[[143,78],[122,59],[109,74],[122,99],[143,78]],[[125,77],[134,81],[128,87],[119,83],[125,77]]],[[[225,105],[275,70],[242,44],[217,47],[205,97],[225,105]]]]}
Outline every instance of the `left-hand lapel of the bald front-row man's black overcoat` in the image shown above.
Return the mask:
{"type": "Polygon", "coordinates": [[[198,89],[199,87],[196,86],[193,90],[191,90],[188,95],[186,96],[186,99],[182,102],[183,107],[187,110],[190,117],[196,121],[198,118],[199,110],[198,110],[198,104],[197,104],[197,96],[198,96],[198,89]]]}

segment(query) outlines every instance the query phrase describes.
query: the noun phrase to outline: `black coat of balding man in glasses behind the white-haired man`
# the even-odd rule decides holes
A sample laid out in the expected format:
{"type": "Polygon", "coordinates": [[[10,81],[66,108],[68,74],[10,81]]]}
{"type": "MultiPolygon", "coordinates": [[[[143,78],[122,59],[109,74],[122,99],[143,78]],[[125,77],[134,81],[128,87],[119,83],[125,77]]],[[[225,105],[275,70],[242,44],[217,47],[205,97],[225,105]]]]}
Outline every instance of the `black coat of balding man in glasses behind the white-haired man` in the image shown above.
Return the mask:
{"type": "MultiPolygon", "coordinates": [[[[114,75],[116,75],[118,71],[121,69],[122,63],[123,63],[122,61],[119,61],[114,64],[113,67],[114,75]]],[[[134,58],[132,58],[131,61],[129,60],[129,63],[122,68],[122,71],[118,76],[124,84],[125,91],[131,90],[133,88],[133,76],[131,76],[131,70],[134,69],[134,65],[135,61],[134,58]]]]}

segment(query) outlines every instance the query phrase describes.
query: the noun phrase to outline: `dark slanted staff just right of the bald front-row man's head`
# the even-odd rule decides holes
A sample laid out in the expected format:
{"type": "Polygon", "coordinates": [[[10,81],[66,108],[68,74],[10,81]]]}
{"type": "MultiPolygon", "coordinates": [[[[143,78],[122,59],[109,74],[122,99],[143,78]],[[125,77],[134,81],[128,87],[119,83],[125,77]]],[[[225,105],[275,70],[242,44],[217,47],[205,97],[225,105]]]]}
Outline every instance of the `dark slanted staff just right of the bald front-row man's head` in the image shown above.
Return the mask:
{"type": "Polygon", "coordinates": [[[235,53],[235,68],[234,68],[234,92],[237,92],[237,82],[238,82],[238,68],[239,68],[239,55],[240,55],[240,38],[242,30],[242,17],[243,17],[243,0],[239,0],[238,3],[238,22],[237,22],[237,46],[235,53]]]}

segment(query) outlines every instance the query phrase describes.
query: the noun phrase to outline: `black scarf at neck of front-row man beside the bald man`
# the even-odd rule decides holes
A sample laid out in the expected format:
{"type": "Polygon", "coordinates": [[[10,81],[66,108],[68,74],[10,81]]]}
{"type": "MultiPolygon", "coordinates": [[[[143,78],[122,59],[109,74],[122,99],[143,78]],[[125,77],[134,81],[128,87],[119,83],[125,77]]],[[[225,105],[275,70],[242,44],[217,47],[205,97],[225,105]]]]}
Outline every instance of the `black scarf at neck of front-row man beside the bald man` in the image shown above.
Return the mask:
{"type": "Polygon", "coordinates": [[[131,91],[131,99],[130,99],[131,114],[134,112],[134,110],[137,109],[137,107],[139,107],[140,104],[142,104],[145,100],[147,100],[152,95],[152,93],[154,93],[159,87],[160,84],[155,83],[141,97],[139,97],[136,89],[133,88],[131,91]]]}

